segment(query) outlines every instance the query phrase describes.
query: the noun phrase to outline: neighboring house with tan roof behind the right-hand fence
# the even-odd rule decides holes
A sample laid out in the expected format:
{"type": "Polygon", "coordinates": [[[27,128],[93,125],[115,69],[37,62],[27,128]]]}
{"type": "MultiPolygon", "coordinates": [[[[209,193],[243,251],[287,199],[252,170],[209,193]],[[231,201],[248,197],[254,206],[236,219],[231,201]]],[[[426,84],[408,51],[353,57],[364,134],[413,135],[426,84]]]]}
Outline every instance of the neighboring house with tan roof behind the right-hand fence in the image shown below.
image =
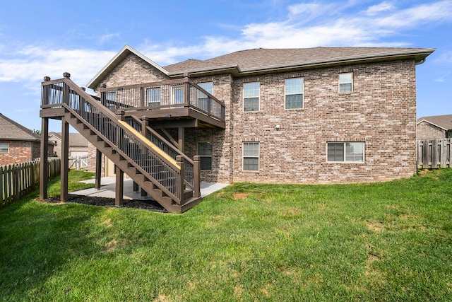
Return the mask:
{"type": "Polygon", "coordinates": [[[417,119],[417,139],[452,137],[452,115],[434,115],[417,119]]]}

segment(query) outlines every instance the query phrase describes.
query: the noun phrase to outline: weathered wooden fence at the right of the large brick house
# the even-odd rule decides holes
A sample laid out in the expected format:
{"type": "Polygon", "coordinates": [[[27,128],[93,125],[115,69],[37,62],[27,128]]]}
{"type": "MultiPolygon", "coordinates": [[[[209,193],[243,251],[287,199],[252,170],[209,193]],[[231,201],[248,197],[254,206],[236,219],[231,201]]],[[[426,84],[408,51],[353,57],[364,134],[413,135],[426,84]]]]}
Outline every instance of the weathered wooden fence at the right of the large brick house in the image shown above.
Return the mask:
{"type": "Polygon", "coordinates": [[[452,139],[418,139],[417,168],[452,168],[452,139]]]}

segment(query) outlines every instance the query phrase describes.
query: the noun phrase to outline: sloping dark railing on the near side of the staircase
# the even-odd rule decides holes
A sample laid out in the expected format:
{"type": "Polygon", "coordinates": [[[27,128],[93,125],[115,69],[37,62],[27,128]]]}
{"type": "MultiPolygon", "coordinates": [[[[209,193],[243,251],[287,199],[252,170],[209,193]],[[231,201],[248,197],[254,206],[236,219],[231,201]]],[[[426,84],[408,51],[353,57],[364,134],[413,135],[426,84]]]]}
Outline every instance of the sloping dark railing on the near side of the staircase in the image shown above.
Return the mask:
{"type": "Polygon", "coordinates": [[[136,168],[153,178],[162,191],[174,200],[183,201],[181,167],[159,156],[158,151],[133,134],[133,129],[124,127],[117,115],[91,98],[69,78],[42,82],[41,108],[66,108],[87,122],[102,139],[121,150],[122,156],[136,163],[136,168]]]}

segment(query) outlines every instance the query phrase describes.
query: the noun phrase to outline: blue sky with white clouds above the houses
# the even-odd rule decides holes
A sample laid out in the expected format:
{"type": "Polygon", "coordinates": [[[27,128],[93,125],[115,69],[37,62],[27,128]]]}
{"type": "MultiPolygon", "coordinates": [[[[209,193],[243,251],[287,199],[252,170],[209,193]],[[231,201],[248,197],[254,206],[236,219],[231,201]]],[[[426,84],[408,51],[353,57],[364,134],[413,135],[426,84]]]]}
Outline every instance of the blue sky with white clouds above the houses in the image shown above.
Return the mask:
{"type": "Polygon", "coordinates": [[[42,78],[85,86],[124,45],[162,66],[258,47],[436,48],[417,66],[417,116],[452,114],[452,0],[4,1],[0,112],[40,129],[42,78]]]}

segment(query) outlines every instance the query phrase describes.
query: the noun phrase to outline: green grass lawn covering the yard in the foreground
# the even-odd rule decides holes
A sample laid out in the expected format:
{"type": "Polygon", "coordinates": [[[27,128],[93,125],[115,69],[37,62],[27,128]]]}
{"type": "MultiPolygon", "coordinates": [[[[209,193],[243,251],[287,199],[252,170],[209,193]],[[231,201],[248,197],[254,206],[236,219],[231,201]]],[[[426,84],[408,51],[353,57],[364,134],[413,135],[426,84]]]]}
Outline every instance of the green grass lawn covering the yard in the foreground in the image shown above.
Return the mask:
{"type": "Polygon", "coordinates": [[[0,301],[451,299],[452,169],[237,183],[184,214],[32,198],[0,210],[0,301]]]}

